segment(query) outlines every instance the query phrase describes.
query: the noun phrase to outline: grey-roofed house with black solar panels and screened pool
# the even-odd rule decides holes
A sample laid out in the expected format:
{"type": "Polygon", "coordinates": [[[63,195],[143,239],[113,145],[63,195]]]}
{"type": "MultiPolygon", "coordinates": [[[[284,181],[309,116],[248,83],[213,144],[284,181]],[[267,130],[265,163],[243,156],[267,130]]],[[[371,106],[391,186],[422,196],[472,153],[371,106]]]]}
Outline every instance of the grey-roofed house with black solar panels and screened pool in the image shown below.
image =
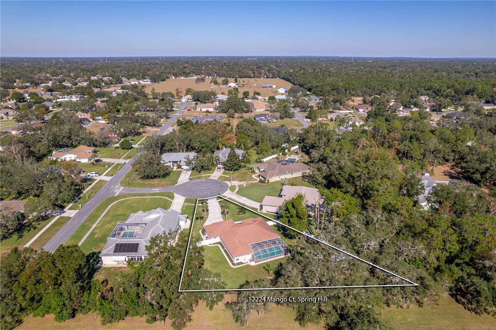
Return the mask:
{"type": "Polygon", "coordinates": [[[103,266],[124,266],[128,260],[148,258],[145,247],[149,245],[151,237],[168,231],[177,232],[187,221],[186,215],[162,208],[131,214],[127,220],[117,223],[107,239],[100,253],[103,266]]]}

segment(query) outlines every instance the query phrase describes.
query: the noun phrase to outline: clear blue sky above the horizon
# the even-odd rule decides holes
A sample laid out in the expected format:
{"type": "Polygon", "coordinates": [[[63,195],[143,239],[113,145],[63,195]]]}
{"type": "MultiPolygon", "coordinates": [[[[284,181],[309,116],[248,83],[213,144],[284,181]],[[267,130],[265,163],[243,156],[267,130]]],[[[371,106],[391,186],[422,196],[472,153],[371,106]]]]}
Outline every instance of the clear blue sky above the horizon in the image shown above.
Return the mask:
{"type": "Polygon", "coordinates": [[[4,1],[1,56],[496,57],[496,1],[4,1]]]}

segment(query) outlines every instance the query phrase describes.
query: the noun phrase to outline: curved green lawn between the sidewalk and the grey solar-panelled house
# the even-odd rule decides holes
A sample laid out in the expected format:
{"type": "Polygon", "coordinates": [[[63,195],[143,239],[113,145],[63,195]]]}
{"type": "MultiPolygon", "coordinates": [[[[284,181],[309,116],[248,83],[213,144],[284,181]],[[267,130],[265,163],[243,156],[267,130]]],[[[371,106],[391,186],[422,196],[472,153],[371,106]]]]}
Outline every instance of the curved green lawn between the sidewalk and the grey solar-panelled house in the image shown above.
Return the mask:
{"type": "MultiPolygon", "coordinates": [[[[117,222],[127,220],[131,213],[136,213],[138,211],[146,212],[159,207],[168,210],[171,207],[171,204],[171,201],[164,198],[136,198],[117,202],[110,208],[100,222],[98,222],[89,236],[86,237],[83,244],[81,244],[81,249],[84,253],[101,251],[105,244],[107,244],[107,238],[117,222]]],[[[100,215],[101,213],[98,216],[100,215]]]]}

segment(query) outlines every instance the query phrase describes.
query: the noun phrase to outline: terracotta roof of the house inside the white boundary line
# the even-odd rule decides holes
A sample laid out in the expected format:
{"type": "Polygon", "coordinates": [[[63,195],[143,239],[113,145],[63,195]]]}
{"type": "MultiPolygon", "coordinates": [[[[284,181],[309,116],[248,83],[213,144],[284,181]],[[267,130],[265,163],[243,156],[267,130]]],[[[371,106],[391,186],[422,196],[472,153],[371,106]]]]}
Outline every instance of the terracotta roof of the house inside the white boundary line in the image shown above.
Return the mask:
{"type": "Polygon", "coordinates": [[[219,221],[203,228],[210,238],[220,236],[234,258],[252,253],[249,244],[280,237],[262,218],[246,219],[242,223],[234,223],[233,220],[219,221]]]}

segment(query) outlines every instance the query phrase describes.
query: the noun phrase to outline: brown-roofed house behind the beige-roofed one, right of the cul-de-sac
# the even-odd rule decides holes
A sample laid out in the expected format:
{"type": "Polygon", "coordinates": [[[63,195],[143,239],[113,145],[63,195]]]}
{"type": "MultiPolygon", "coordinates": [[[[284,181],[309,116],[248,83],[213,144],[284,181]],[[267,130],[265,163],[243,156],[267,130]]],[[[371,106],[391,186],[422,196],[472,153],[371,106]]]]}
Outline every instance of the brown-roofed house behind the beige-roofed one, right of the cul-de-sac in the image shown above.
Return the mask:
{"type": "Polygon", "coordinates": [[[310,166],[294,161],[281,160],[277,162],[264,162],[251,165],[260,178],[266,179],[267,182],[289,179],[291,177],[302,176],[309,171],[310,166]]]}

